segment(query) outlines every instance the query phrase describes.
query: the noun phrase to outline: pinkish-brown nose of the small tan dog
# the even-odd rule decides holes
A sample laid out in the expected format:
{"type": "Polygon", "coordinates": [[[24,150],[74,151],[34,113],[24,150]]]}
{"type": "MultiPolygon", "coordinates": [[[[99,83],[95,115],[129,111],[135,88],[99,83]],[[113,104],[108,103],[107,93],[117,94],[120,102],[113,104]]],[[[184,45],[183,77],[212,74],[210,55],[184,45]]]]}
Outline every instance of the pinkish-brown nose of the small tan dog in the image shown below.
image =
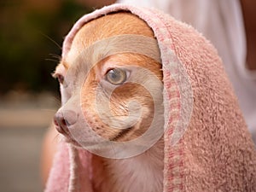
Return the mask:
{"type": "Polygon", "coordinates": [[[77,121],[77,114],[73,111],[58,111],[54,116],[55,128],[61,134],[68,134],[68,126],[74,125],[77,121]]]}

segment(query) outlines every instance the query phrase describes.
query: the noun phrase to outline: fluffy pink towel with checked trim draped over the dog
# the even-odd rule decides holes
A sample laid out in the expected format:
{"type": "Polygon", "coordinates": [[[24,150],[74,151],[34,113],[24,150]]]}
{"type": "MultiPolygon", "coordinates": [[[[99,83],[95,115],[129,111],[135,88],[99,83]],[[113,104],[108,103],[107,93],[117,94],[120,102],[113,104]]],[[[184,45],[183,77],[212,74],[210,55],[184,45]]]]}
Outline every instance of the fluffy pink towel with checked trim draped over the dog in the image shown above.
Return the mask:
{"type": "MultiPolygon", "coordinates": [[[[84,15],[67,35],[62,55],[86,22],[118,11],[145,20],[160,47],[164,191],[256,191],[256,152],[236,96],[216,49],[194,28],[155,9],[115,4],[84,15]]],[[[45,191],[93,191],[90,155],[61,143],[45,191]]]]}

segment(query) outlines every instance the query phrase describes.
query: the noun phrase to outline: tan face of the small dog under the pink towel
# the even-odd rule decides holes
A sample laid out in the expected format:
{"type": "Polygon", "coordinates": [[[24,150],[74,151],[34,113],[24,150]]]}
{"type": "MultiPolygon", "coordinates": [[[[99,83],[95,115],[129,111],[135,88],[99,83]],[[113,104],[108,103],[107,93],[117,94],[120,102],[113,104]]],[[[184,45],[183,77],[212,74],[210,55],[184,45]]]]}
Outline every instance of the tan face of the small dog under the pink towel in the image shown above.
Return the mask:
{"type": "MultiPolygon", "coordinates": [[[[62,107],[55,114],[55,125],[67,141],[81,145],[79,133],[75,136],[73,132],[82,129],[108,141],[130,141],[148,131],[155,117],[162,116],[160,58],[156,61],[143,51],[109,54],[115,45],[106,39],[120,46],[119,38],[127,34],[128,44],[131,35],[154,38],[147,24],[129,13],[92,20],[75,35],[68,54],[56,67],[62,107]],[[155,110],[160,110],[160,116],[154,115],[155,110]],[[82,127],[81,117],[86,122],[82,127]]],[[[158,49],[154,54],[160,57],[158,49]]]]}

